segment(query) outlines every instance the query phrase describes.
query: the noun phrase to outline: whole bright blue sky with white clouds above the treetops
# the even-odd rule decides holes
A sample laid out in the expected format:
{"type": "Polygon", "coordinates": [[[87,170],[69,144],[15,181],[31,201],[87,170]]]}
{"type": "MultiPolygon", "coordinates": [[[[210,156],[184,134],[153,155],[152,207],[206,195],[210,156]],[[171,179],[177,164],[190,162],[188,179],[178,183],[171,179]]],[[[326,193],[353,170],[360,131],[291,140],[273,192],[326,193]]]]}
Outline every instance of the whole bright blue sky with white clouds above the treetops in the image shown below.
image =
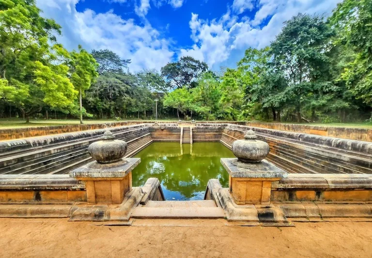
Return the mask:
{"type": "Polygon", "coordinates": [[[244,50],[263,48],[299,12],[329,15],[341,0],[37,0],[62,25],[72,50],[108,48],[131,59],[132,72],[160,70],[190,55],[218,71],[244,50]]]}

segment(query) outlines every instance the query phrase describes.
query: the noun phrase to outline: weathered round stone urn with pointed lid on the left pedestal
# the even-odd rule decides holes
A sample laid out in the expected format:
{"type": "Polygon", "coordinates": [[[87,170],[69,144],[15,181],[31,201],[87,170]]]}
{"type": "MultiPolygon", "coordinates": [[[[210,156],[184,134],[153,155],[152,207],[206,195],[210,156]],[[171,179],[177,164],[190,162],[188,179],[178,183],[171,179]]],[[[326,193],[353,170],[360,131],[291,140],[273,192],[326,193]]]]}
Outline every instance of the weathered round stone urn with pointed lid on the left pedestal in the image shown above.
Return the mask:
{"type": "Polygon", "coordinates": [[[126,153],[128,145],[121,140],[115,140],[111,131],[107,130],[101,137],[101,141],[89,145],[88,152],[98,163],[113,163],[121,161],[126,153]]]}

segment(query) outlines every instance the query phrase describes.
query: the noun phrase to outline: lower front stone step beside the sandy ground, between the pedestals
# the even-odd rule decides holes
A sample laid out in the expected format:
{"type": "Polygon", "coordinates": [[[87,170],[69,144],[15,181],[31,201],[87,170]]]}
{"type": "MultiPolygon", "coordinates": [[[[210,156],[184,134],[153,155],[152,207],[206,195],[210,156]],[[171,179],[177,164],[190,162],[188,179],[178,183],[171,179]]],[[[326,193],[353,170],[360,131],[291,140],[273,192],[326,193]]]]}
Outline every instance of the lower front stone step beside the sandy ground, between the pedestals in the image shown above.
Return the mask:
{"type": "Polygon", "coordinates": [[[225,216],[225,212],[219,207],[137,207],[131,217],[137,219],[221,219],[225,216]]]}

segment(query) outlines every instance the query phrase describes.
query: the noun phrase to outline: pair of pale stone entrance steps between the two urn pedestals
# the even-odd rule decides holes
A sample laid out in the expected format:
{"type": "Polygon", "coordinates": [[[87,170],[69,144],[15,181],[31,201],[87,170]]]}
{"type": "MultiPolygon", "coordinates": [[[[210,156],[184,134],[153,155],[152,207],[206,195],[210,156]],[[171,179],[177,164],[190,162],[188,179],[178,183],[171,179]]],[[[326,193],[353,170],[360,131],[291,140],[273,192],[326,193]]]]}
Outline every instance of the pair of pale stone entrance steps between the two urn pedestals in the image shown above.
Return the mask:
{"type": "Polygon", "coordinates": [[[148,201],[132,213],[137,219],[220,219],[225,217],[214,200],[148,201]]]}

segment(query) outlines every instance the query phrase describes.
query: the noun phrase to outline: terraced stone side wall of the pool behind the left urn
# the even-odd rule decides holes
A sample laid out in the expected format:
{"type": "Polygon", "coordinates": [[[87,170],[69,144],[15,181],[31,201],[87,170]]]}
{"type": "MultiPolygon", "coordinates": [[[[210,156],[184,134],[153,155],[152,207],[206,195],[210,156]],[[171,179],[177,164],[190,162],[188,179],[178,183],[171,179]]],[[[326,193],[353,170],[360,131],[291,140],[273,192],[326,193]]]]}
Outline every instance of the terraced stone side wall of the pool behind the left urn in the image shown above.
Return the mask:
{"type": "MultiPolygon", "coordinates": [[[[111,130],[116,139],[127,142],[127,157],[152,142],[146,124],[111,130]]],[[[88,146],[98,141],[104,132],[105,129],[98,129],[0,143],[0,174],[66,174],[92,161],[88,146]]]]}

